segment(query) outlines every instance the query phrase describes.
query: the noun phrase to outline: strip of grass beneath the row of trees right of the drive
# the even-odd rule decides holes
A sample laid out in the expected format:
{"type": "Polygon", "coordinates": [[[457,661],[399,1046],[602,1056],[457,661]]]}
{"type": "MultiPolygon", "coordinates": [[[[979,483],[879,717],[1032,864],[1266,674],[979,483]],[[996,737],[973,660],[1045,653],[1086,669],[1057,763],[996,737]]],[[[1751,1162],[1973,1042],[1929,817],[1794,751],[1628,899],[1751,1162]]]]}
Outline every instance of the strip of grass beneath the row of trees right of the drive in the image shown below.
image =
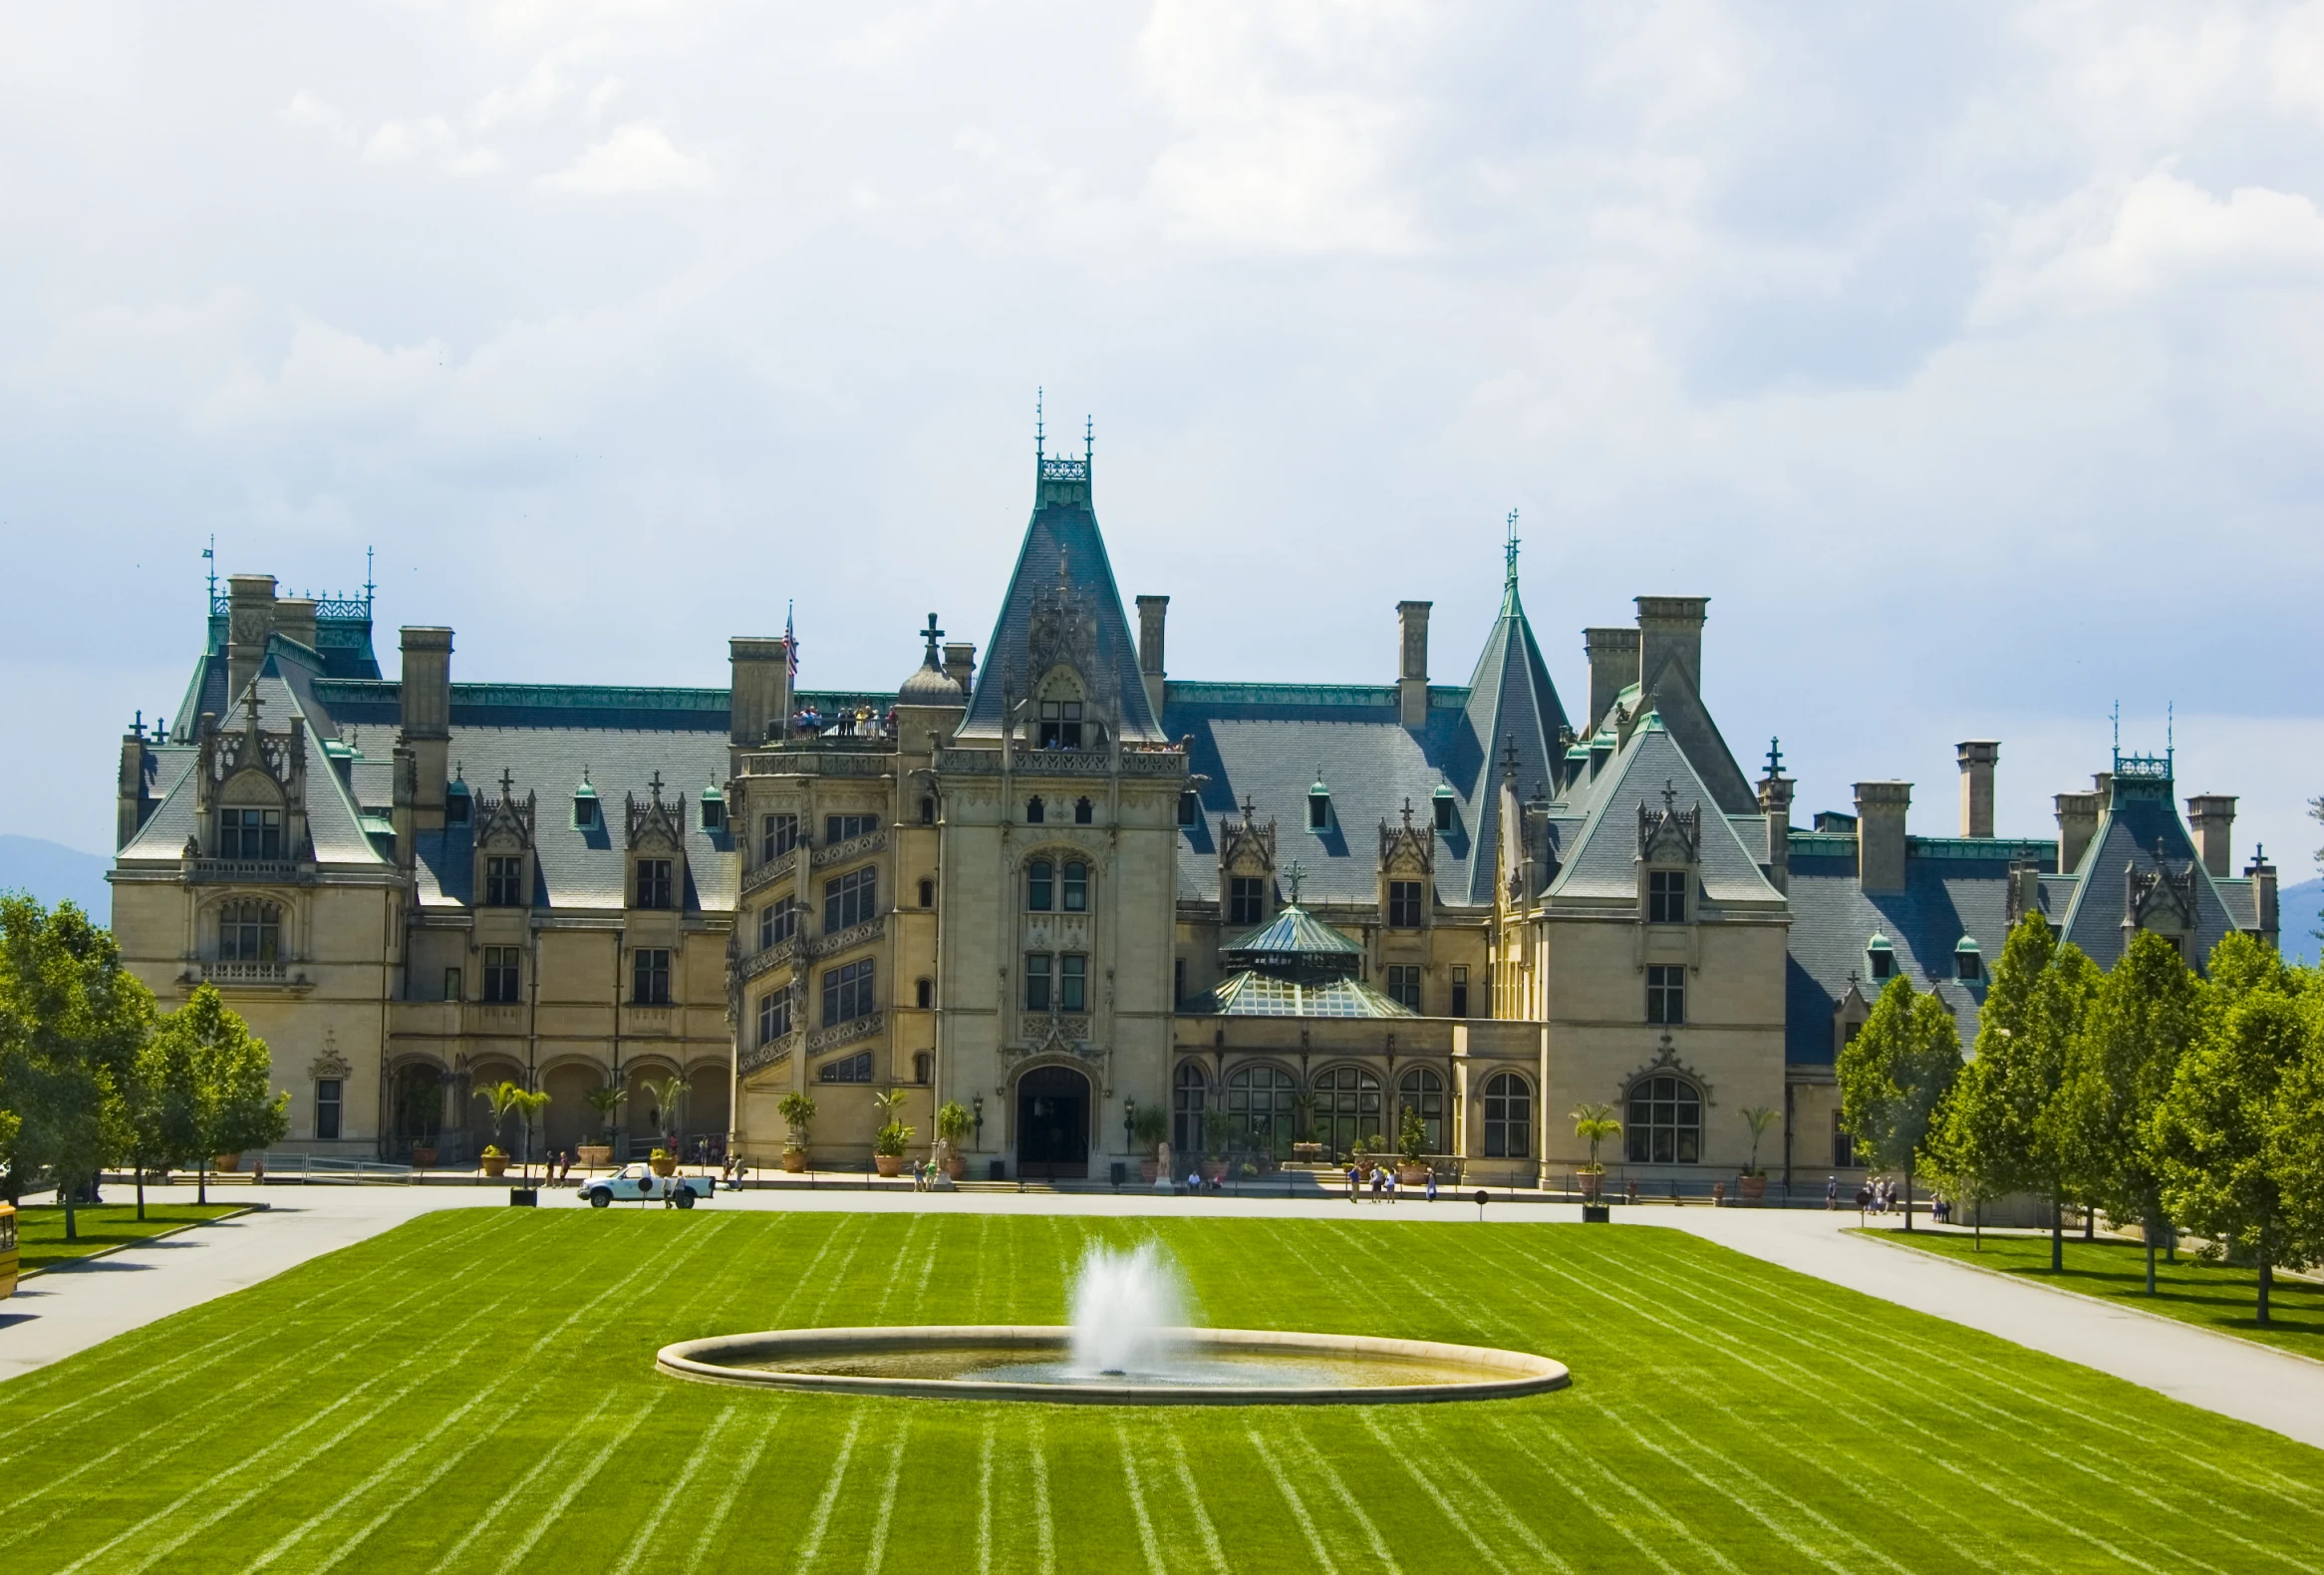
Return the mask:
{"type": "Polygon", "coordinates": [[[2268,1322],[2259,1322],[2259,1271],[2229,1264],[2205,1264],[2192,1252],[2178,1261],[2154,1254],[2154,1296],[2147,1296],[2147,1250],[2136,1240],[2082,1240],[2066,1236],[2066,1273],[2050,1273],[2047,1236],[1985,1234],[1978,1250],[1968,1231],[1873,1231],[1885,1240],[1920,1247],[1964,1264],[1996,1268],[2008,1275],[2057,1285],[2059,1289],[2106,1296],[2140,1312],[2161,1312],[2219,1333],[2240,1333],[2303,1357],[2324,1359],[2324,1285],[2275,1278],[2268,1292],[2268,1322]]]}

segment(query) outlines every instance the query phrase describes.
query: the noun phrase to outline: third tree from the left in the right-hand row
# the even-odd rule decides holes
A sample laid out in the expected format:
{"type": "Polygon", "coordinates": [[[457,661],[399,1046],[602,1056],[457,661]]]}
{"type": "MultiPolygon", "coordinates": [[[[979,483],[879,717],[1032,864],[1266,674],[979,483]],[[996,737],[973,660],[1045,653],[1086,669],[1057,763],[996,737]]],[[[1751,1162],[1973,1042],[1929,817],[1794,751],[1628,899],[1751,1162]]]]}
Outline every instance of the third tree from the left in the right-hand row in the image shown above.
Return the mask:
{"type": "Polygon", "coordinates": [[[2059,1134],[2068,1178],[2115,1220],[2138,1220],[2147,1243],[2147,1296],[2154,1294],[2154,1243],[2171,1229],[2154,1113],[2203,1027],[2201,992],[2175,945],[2147,929],[2133,932],[2122,962],[2089,1001],[2066,1073],[2059,1134]]]}

